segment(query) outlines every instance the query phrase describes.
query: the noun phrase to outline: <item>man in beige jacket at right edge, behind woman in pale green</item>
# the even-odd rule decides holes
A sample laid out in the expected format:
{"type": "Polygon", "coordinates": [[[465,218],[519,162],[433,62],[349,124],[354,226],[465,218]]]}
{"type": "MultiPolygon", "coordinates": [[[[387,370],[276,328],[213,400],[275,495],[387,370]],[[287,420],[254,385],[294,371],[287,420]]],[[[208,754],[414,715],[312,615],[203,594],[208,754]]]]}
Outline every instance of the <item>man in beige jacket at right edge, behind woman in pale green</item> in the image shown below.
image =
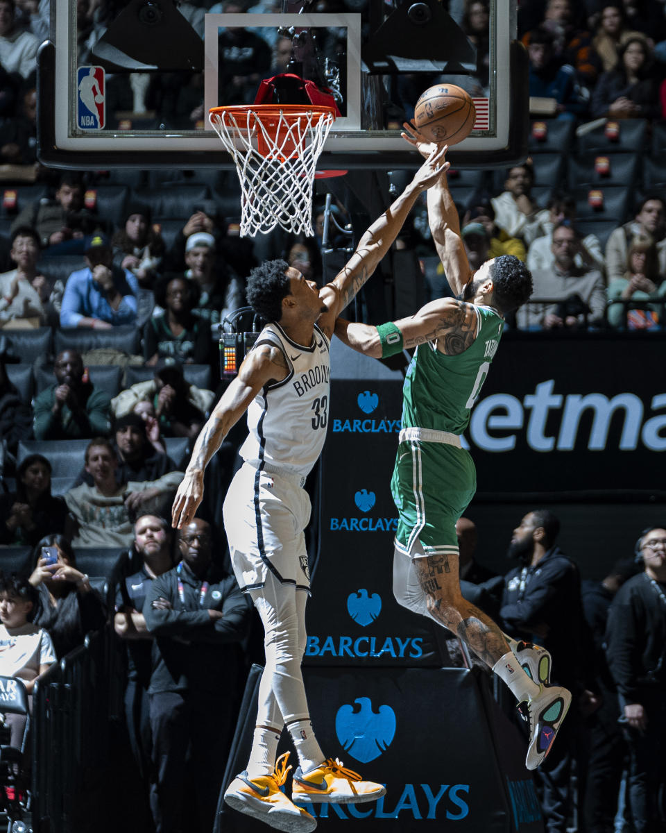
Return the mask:
{"type": "Polygon", "coordinates": [[[659,274],[666,275],[666,202],[660,194],[648,194],[639,203],[632,222],[614,229],[606,243],[606,277],[609,285],[624,277],[629,246],[634,237],[648,237],[657,246],[659,274]]]}

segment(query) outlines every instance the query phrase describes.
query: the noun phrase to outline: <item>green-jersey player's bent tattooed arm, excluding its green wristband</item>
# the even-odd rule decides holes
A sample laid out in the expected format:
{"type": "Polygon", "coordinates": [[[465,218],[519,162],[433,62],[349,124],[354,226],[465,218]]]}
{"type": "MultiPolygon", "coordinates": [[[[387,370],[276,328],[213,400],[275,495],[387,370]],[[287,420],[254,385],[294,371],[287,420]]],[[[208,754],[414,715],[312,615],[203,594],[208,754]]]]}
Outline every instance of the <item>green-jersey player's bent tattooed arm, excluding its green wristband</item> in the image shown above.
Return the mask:
{"type": "MultiPolygon", "coordinates": [[[[477,316],[473,304],[455,298],[431,301],[410,318],[394,322],[402,333],[404,347],[417,347],[425,342],[437,342],[437,349],[447,356],[458,356],[474,342],[477,316]]],[[[381,342],[377,328],[338,318],[335,335],[357,352],[373,358],[381,357],[381,342]]]]}

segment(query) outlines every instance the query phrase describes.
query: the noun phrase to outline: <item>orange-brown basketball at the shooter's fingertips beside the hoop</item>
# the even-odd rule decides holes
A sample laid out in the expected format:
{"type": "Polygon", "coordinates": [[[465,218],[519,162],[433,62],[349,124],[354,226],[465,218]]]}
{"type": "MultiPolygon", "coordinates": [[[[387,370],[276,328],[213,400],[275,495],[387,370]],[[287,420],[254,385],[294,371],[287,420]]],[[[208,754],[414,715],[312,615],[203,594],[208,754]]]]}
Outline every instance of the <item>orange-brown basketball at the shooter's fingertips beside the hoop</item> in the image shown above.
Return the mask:
{"type": "Polygon", "coordinates": [[[416,102],[414,123],[429,142],[457,145],[469,136],[475,116],[474,102],[462,87],[435,84],[416,102]]]}

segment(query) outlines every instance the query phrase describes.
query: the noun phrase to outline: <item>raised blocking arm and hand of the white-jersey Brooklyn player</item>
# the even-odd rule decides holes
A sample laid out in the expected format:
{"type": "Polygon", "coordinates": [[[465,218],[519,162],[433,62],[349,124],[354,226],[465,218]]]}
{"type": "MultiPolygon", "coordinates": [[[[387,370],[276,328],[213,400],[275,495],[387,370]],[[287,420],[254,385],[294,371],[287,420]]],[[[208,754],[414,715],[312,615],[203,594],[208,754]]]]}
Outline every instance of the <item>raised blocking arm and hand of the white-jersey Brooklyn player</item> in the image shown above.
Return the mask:
{"type": "Polygon", "coordinates": [[[328,312],[320,317],[318,324],[327,336],[331,336],[333,332],[335,318],[354,299],[360,287],[375,272],[380,260],[389,251],[420,192],[433,185],[440,176],[442,166],[448,166],[449,163],[445,162],[444,155],[445,148],[435,147],[415,173],[405,191],[360,238],[354,254],[345,267],[338,272],[331,283],[322,287],[320,297],[328,308],[328,312]]]}

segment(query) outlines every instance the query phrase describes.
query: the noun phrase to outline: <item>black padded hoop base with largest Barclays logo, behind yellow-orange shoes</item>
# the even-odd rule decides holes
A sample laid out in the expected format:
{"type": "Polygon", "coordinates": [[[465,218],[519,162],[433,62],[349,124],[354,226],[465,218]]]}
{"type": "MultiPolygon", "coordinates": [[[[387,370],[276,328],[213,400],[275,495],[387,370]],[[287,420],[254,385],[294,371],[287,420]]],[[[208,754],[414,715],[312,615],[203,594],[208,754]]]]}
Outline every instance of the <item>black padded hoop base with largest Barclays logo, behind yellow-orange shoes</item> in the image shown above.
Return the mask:
{"type": "MultiPolygon", "coordinates": [[[[386,786],[385,796],[367,804],[308,805],[321,831],[542,833],[524,768],[526,743],[483,677],[451,668],[307,668],[304,681],[324,754],[386,786]]],[[[250,751],[258,687],[252,677],[249,687],[225,783],[244,769],[250,751]]],[[[278,755],[285,751],[296,766],[286,731],[278,755]]],[[[222,803],[220,810],[216,831],[266,829],[222,803]]]]}

